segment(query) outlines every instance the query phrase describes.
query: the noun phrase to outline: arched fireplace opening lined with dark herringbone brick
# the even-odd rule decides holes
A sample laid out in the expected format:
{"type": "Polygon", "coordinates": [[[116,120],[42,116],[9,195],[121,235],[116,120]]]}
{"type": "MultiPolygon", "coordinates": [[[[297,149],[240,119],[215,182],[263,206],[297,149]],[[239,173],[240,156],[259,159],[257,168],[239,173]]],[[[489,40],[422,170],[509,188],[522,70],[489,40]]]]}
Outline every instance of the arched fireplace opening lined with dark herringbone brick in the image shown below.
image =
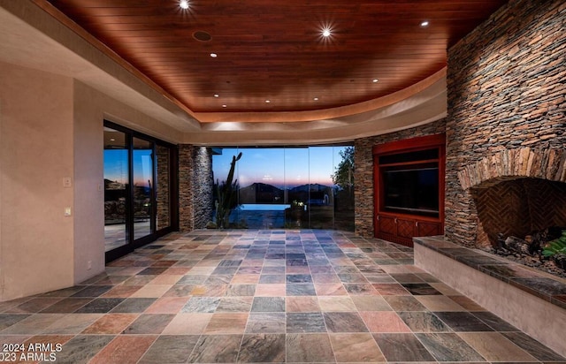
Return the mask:
{"type": "Polygon", "coordinates": [[[476,246],[566,277],[542,250],[566,231],[566,183],[543,178],[491,179],[471,188],[478,212],[476,246]]]}

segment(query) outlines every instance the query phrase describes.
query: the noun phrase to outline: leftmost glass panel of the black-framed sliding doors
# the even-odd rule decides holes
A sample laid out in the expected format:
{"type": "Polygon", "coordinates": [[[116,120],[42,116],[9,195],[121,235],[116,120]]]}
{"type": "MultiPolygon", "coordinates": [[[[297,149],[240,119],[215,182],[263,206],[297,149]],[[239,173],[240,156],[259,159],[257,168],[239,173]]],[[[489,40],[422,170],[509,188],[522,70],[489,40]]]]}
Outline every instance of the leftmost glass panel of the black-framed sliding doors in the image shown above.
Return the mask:
{"type": "Polygon", "coordinates": [[[104,128],[104,242],[107,252],[125,246],[128,241],[128,149],[126,133],[104,128]]]}

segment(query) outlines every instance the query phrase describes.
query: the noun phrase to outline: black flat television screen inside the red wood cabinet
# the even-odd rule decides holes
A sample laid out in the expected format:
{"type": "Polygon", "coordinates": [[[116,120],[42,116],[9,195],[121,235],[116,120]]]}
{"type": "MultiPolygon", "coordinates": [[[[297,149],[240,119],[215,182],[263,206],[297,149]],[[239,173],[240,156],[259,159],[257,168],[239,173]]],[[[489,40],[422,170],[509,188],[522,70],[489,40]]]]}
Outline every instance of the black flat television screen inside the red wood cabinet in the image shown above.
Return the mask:
{"type": "Polygon", "coordinates": [[[439,216],[439,168],[384,169],[386,211],[439,216]]]}

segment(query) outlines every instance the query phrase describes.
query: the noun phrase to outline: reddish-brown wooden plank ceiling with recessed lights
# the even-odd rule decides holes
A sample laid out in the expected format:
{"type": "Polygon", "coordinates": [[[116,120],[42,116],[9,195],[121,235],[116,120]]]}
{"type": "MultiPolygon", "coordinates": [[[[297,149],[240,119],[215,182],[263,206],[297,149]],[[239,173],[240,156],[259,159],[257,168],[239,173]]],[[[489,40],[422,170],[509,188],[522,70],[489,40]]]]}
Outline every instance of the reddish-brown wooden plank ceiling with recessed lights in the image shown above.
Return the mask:
{"type": "Polygon", "coordinates": [[[447,48],[506,1],[49,3],[202,113],[324,110],[394,93],[440,71],[447,48]]]}

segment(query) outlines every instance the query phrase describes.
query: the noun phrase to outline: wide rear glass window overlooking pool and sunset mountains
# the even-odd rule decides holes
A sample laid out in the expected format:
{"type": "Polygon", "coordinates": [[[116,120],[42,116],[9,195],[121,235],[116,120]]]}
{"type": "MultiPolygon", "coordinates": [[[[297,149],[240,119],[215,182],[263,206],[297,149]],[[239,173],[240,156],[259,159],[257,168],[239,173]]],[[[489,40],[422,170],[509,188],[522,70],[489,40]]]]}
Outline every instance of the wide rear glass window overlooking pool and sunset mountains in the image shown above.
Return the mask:
{"type": "MultiPolygon", "coordinates": [[[[220,185],[233,156],[241,153],[234,169],[237,207],[231,227],[354,230],[353,180],[348,184],[342,172],[352,162],[352,146],[214,150],[212,169],[220,185]]],[[[353,165],[349,168],[353,171],[353,165]]]]}

